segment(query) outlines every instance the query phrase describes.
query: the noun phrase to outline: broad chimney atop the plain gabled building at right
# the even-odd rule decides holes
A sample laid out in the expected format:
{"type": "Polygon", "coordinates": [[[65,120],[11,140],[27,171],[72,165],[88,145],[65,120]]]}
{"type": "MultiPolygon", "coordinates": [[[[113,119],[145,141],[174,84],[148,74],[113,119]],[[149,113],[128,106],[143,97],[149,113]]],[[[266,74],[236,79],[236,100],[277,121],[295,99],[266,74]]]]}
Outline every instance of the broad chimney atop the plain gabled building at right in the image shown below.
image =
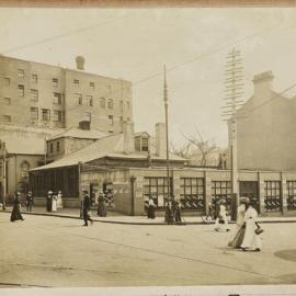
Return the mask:
{"type": "Polygon", "coordinates": [[[273,78],[274,76],[272,71],[255,75],[253,78],[254,96],[259,96],[264,100],[269,99],[266,95],[271,94],[273,78]]]}

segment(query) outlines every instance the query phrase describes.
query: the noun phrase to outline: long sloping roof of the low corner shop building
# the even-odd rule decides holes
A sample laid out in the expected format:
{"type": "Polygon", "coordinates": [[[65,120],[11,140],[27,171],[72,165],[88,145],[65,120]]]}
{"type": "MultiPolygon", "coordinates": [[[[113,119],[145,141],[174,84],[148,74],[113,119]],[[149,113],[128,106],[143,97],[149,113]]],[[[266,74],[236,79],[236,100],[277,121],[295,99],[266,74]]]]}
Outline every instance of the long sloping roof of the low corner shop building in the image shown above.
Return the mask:
{"type": "MultiPolygon", "coordinates": [[[[126,159],[147,159],[146,153],[138,151],[126,155],[124,152],[124,134],[114,134],[101,139],[98,139],[93,144],[60,159],[48,163],[43,167],[34,168],[31,171],[38,171],[45,169],[54,169],[61,167],[77,166],[79,162],[86,163],[91,160],[112,157],[112,158],[126,158],[126,159]]],[[[155,153],[155,147],[151,147],[151,159],[164,160],[163,157],[159,157],[155,153]]],[[[174,161],[184,161],[183,158],[170,155],[170,159],[174,161]]]]}

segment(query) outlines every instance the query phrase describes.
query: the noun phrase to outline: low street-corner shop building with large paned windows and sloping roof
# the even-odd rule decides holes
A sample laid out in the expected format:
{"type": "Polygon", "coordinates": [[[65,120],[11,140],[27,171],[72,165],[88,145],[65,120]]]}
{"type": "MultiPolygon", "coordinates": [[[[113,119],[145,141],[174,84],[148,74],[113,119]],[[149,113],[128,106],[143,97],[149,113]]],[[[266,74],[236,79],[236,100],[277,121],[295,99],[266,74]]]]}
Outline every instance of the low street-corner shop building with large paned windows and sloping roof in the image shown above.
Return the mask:
{"type": "MultiPolygon", "coordinates": [[[[45,204],[48,190],[62,191],[64,205],[78,207],[81,190],[113,194],[114,210],[145,215],[149,196],[162,212],[168,196],[166,128],[156,125],[156,135],[124,132],[104,136],[59,160],[30,171],[30,186],[36,204],[45,204]]],[[[204,215],[213,200],[227,200],[231,208],[231,172],[192,168],[185,159],[170,155],[170,191],[180,201],[183,214],[204,215]]],[[[261,215],[296,215],[296,172],[239,171],[239,194],[258,200],[261,215]]]]}

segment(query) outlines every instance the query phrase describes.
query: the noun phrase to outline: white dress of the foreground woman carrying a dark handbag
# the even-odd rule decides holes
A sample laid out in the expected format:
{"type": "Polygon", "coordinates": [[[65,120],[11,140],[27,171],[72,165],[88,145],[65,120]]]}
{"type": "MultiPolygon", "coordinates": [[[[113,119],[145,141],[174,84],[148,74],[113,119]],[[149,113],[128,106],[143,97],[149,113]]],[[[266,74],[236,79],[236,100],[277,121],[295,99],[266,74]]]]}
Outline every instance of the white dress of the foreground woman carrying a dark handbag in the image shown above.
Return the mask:
{"type": "Polygon", "coordinates": [[[252,207],[249,206],[244,214],[244,223],[246,223],[246,234],[243,241],[241,243],[241,248],[246,249],[261,249],[262,248],[262,241],[261,238],[254,232],[257,229],[257,217],[258,213],[252,207]]]}

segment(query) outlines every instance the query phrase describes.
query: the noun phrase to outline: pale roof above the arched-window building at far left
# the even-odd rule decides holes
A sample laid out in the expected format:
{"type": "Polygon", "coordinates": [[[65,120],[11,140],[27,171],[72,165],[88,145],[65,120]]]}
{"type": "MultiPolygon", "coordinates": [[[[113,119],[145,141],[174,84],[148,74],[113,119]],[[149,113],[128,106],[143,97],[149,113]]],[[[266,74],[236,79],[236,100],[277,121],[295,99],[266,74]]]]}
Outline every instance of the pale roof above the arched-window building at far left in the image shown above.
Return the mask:
{"type": "Polygon", "coordinates": [[[45,141],[36,137],[2,136],[8,153],[12,155],[45,155],[45,141]]]}

